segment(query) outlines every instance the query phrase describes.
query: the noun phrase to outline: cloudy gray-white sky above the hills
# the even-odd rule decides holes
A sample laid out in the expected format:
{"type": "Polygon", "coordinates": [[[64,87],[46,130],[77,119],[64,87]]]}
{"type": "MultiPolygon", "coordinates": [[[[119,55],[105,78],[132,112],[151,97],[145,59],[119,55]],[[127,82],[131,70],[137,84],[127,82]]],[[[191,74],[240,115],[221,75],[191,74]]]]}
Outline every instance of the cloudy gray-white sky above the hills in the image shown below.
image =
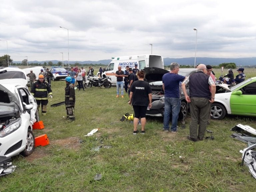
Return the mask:
{"type": "Polygon", "coordinates": [[[8,44],[14,61],[61,61],[60,52],[98,61],[151,48],[164,58],[195,57],[197,39],[197,57],[256,57],[254,2],[1,0],[0,39],[8,43],[0,41],[0,56],[8,44]]]}

